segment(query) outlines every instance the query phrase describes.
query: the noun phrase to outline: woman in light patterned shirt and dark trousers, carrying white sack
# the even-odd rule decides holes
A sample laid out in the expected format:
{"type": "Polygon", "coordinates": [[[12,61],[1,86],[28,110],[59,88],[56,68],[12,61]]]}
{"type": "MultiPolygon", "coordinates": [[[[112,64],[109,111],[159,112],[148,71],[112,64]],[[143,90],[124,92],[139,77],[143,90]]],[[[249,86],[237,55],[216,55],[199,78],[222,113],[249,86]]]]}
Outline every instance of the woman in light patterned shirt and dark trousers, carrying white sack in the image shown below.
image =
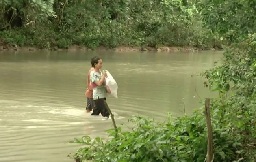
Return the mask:
{"type": "Polygon", "coordinates": [[[93,69],[90,72],[90,81],[91,87],[93,88],[93,100],[95,102],[95,106],[92,107],[93,113],[91,113],[91,115],[99,115],[101,113],[103,117],[109,117],[109,112],[105,104],[107,96],[105,78],[107,75],[100,70],[102,64],[102,59],[99,57],[93,57],[91,59],[91,66],[93,69]]]}

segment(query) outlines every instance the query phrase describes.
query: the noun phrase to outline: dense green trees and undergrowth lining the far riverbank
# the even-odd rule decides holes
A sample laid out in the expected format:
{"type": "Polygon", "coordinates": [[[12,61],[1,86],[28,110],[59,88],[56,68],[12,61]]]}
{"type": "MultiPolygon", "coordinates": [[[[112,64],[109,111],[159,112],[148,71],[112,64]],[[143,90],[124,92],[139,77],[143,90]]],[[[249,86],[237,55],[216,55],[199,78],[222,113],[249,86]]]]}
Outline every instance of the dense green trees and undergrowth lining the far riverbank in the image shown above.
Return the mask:
{"type": "Polygon", "coordinates": [[[253,32],[255,6],[253,0],[2,0],[0,43],[221,48],[253,32]]]}

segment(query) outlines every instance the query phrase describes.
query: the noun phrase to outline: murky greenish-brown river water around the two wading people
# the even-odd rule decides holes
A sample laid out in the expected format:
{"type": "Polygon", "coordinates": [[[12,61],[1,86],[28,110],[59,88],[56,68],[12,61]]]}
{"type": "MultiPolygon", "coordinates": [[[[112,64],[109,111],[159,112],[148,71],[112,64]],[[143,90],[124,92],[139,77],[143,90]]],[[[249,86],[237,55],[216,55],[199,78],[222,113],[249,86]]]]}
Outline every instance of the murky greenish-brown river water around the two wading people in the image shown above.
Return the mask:
{"type": "MultiPolygon", "coordinates": [[[[73,162],[75,137],[107,137],[111,119],[85,113],[87,72],[98,55],[118,83],[107,102],[117,126],[132,115],[164,121],[202,106],[213,97],[199,74],[222,58],[221,51],[7,52],[0,53],[0,162],[73,162]]],[[[125,128],[124,128],[125,130],[125,128]]]]}

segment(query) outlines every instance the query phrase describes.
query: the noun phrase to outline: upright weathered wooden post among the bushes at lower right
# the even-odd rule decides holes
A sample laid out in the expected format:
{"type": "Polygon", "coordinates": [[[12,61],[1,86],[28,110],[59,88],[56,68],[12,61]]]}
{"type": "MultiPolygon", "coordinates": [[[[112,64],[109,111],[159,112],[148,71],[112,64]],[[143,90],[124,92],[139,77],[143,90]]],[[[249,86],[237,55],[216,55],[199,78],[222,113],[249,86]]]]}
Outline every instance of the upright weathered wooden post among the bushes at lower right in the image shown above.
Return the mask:
{"type": "Polygon", "coordinates": [[[206,125],[207,125],[207,132],[208,132],[206,162],[213,162],[213,130],[212,130],[212,123],[210,119],[210,98],[206,98],[205,100],[204,115],[206,118],[206,125]]]}

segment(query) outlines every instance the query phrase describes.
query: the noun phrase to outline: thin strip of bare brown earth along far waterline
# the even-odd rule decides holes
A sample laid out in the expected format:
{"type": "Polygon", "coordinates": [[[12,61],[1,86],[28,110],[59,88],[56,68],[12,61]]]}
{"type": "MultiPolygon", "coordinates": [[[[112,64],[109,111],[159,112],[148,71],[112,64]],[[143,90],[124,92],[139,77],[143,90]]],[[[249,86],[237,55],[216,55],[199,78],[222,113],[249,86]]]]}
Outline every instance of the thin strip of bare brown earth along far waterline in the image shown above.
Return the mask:
{"type": "Polygon", "coordinates": [[[78,46],[78,45],[72,45],[68,48],[54,48],[54,49],[40,49],[37,47],[29,47],[29,46],[11,46],[11,45],[0,45],[0,51],[117,51],[117,52],[139,52],[139,51],[156,51],[156,52],[178,52],[178,51],[202,51],[202,50],[215,50],[214,48],[211,49],[200,49],[193,46],[163,46],[163,47],[140,47],[140,46],[119,46],[116,48],[108,48],[108,47],[97,47],[95,49],[90,49],[85,46],[78,46]]]}

